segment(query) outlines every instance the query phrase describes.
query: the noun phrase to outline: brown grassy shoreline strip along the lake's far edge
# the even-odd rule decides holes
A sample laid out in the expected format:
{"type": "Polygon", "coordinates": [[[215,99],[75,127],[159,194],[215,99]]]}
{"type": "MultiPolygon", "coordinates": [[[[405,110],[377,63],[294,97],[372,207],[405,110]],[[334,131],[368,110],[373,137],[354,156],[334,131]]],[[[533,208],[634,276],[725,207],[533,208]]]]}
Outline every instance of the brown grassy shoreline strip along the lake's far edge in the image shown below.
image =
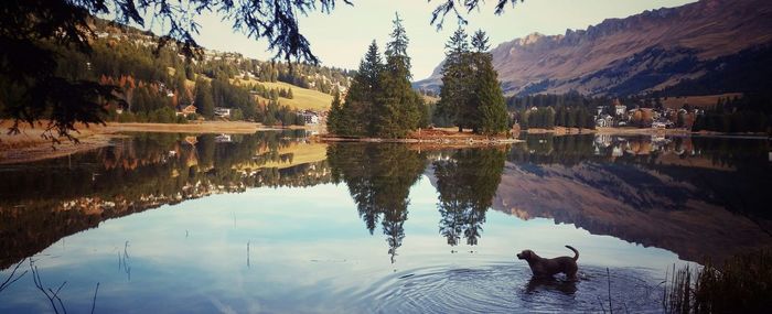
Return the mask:
{"type": "MultiPolygon", "coordinates": [[[[13,164],[34,162],[47,159],[62,158],[69,154],[95,150],[108,147],[110,141],[117,138],[125,137],[125,132],[169,132],[169,133],[230,133],[230,134],[249,134],[258,131],[277,131],[277,130],[319,130],[319,126],[314,127],[287,127],[275,128],[266,127],[260,123],[242,122],[242,121],[205,121],[186,124],[174,123],[118,123],[109,122],[104,126],[76,124],[77,132],[72,132],[79,142],[62,139],[60,144],[53,144],[51,140],[43,139],[45,122],[35,124],[34,128],[29,124],[20,126],[21,133],[10,136],[7,130],[11,126],[11,121],[1,121],[0,129],[0,164],[13,164]]],[[[609,134],[609,136],[690,136],[690,137],[720,137],[720,138],[744,138],[744,139],[770,139],[766,134],[760,133],[721,133],[721,132],[691,132],[683,129],[636,129],[636,128],[598,128],[591,129],[566,129],[555,128],[547,129],[529,129],[524,130],[525,133],[540,134],[553,133],[555,136],[575,136],[575,134],[609,134]]],[[[475,147],[492,147],[504,145],[523,142],[523,140],[503,137],[486,137],[474,134],[465,130],[458,132],[454,128],[436,128],[412,132],[404,139],[380,139],[380,138],[341,138],[333,134],[321,134],[318,137],[322,142],[366,142],[366,143],[406,143],[419,144],[427,148],[475,148],[475,147]]]]}

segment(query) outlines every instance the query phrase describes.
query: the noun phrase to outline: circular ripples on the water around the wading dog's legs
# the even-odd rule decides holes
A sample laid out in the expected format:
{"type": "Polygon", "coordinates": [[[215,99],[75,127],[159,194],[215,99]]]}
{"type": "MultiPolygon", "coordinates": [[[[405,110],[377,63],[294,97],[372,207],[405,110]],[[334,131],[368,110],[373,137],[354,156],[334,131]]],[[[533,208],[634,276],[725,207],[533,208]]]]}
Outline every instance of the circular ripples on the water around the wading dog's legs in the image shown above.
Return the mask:
{"type": "Polygon", "coordinates": [[[662,288],[635,269],[580,270],[578,282],[532,279],[521,266],[425,268],[395,273],[358,301],[378,313],[662,312],[662,288]],[[602,305],[601,305],[602,303],[602,305]]]}

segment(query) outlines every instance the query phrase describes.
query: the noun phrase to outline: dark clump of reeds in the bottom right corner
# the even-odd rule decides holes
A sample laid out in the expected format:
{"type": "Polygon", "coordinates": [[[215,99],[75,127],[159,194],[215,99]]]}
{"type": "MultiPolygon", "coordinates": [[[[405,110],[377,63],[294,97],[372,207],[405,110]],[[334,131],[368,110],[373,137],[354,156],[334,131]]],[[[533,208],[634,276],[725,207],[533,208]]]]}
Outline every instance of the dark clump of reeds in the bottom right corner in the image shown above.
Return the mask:
{"type": "Polygon", "coordinates": [[[667,313],[764,313],[772,302],[772,251],[736,256],[722,264],[680,269],[665,275],[667,313]]]}

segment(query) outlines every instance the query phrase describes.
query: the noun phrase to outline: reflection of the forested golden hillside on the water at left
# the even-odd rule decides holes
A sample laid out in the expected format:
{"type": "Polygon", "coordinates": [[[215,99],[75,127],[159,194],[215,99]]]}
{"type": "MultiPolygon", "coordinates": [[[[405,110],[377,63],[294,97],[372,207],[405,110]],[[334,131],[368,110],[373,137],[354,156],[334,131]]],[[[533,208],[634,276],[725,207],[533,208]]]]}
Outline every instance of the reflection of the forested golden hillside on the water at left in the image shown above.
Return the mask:
{"type": "Polygon", "coordinates": [[[330,182],[325,145],[301,136],[258,132],[217,143],[214,136],[144,133],[71,158],[3,167],[0,269],[110,218],[247,187],[330,182]]]}

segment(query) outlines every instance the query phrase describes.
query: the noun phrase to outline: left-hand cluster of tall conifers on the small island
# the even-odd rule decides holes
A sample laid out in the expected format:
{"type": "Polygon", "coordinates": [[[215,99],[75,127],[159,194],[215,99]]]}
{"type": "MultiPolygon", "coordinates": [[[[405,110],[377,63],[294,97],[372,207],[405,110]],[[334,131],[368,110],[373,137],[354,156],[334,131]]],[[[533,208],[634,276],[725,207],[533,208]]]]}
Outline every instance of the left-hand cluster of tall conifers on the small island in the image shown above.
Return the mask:
{"type": "Polygon", "coordinates": [[[335,93],[328,129],[343,137],[404,138],[429,121],[422,97],[410,86],[409,40],[399,14],[393,21],[392,41],[382,59],[375,41],[341,104],[335,93]]]}

